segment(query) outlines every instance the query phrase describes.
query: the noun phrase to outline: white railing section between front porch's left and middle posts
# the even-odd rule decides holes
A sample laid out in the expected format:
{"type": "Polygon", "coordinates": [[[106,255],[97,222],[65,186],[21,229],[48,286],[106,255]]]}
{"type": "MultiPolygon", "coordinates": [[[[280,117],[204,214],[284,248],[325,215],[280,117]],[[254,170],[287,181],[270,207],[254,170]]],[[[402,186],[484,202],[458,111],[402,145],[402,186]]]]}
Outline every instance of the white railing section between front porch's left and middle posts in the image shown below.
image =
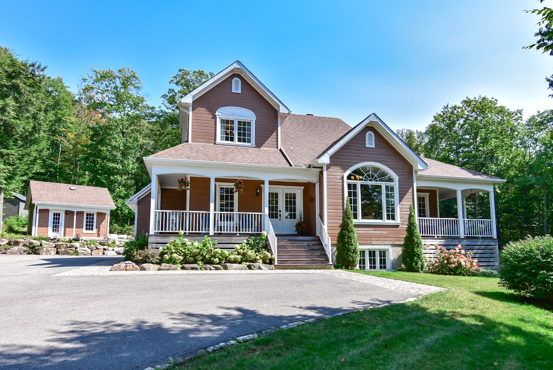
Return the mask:
{"type": "Polygon", "coordinates": [[[209,212],[197,210],[155,210],[155,233],[209,233],[209,212]]]}

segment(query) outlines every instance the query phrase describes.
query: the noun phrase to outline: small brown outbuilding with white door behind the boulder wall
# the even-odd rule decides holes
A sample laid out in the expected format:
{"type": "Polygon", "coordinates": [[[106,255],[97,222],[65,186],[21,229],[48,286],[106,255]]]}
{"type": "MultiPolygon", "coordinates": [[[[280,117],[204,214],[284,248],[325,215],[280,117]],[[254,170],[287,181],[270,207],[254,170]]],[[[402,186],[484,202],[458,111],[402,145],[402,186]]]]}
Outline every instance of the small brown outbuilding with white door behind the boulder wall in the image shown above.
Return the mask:
{"type": "Polygon", "coordinates": [[[106,238],[109,211],[115,208],[107,188],[30,181],[27,231],[33,236],[106,238]]]}

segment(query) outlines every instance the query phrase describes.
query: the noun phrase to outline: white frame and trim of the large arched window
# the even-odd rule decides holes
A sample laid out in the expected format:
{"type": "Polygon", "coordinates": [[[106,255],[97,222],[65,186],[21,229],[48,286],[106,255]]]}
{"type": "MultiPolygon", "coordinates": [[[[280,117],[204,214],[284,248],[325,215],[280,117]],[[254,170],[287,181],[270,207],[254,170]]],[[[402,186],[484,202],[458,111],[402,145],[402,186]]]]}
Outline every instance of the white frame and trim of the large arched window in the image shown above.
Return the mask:
{"type": "MultiPolygon", "coordinates": [[[[324,166],[326,167],[326,165],[324,166]]],[[[349,167],[344,174],[342,175],[343,178],[343,207],[346,207],[346,198],[348,197],[348,183],[354,183],[357,184],[357,219],[353,220],[354,224],[365,224],[365,225],[374,225],[374,224],[385,224],[385,225],[401,225],[401,220],[399,219],[399,177],[397,174],[395,174],[392,169],[390,169],[387,166],[384,166],[382,163],[378,162],[362,162],[358,163],[357,165],[354,165],[352,167],[349,167]],[[394,178],[394,182],[377,182],[377,181],[353,181],[348,180],[347,176],[349,173],[351,173],[354,169],[357,169],[359,167],[363,166],[373,166],[378,167],[380,169],[384,169],[384,171],[387,171],[390,176],[394,178]],[[360,184],[372,184],[372,185],[380,185],[382,186],[382,220],[364,220],[361,219],[361,186],[360,184]],[[394,186],[394,205],[395,205],[395,220],[387,220],[388,213],[386,212],[386,185],[393,185],[394,186]]],[[[325,207],[326,208],[326,207],[325,207]]]]}

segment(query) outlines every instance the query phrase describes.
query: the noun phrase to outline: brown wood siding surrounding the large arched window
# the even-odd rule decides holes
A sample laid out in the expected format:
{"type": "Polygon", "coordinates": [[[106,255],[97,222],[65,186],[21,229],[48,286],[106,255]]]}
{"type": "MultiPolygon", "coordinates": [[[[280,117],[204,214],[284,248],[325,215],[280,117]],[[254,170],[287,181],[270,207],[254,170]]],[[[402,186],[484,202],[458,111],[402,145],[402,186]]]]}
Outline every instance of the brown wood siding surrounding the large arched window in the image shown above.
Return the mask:
{"type": "Polygon", "coordinates": [[[409,216],[409,204],[413,203],[413,165],[395,150],[380,133],[371,127],[363,129],[330,158],[327,166],[328,232],[332,243],[340,231],[343,214],[343,174],[362,162],[382,163],[399,177],[399,220],[401,225],[356,225],[359,244],[402,244],[409,216]],[[368,130],[374,132],[375,147],[365,146],[368,130]]]}

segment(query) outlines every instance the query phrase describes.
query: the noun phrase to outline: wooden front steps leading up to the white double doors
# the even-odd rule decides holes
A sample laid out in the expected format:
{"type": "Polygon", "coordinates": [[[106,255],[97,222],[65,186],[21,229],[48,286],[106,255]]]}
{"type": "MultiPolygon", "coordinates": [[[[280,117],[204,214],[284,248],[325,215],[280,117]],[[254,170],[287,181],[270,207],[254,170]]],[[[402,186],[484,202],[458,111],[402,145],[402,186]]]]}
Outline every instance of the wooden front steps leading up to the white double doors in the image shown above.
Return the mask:
{"type": "Polygon", "coordinates": [[[319,237],[278,235],[275,269],[332,269],[319,237]]]}

